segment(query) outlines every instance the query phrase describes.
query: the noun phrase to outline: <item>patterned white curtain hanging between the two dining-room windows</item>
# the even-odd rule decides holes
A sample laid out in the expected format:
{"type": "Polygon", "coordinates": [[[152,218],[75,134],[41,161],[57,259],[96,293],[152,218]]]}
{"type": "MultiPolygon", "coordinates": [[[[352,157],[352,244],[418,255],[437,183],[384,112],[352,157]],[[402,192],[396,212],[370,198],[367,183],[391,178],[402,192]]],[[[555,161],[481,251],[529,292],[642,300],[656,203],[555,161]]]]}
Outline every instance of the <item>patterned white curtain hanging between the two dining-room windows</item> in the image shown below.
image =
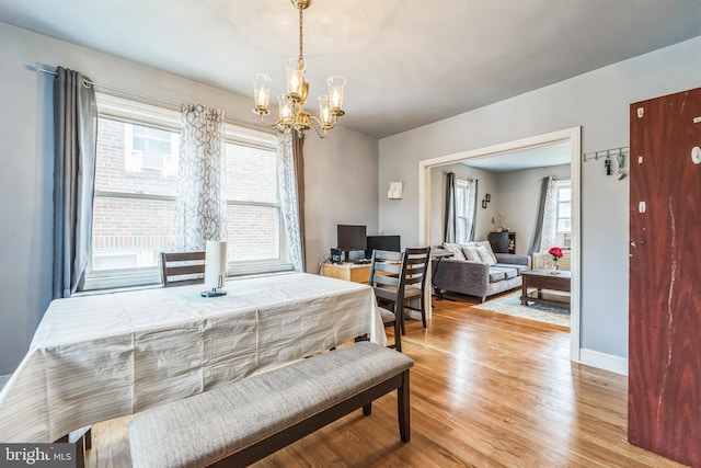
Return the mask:
{"type": "Polygon", "coordinates": [[[179,251],[204,250],[207,240],[227,239],[226,164],[223,111],[183,106],[175,203],[179,251]]]}

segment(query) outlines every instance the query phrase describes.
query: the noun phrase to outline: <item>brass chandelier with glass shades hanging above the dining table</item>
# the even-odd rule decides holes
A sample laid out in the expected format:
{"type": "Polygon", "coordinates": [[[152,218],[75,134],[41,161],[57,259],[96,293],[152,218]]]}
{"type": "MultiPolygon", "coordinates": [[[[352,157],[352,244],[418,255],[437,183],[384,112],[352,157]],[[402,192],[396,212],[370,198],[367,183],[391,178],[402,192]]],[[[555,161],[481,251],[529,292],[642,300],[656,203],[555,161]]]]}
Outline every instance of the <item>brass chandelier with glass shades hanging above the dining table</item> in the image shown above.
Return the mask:
{"type": "Polygon", "coordinates": [[[311,0],[290,0],[299,10],[299,57],[285,60],[287,67],[287,94],[278,94],[279,119],[269,124],[265,122],[265,115],[269,113],[267,106],[271,99],[271,77],[255,75],[253,77],[253,99],[255,109],[253,112],[261,117],[263,124],[277,127],[278,132],[289,133],[297,130],[301,137],[304,130],[314,128],[317,135],[324,138],[329,130],[336,125],[338,117],[344,112],[343,88],[346,80],[343,77],[332,76],[326,80],[329,94],[319,96],[319,117],[304,111],[304,103],[309,95],[309,83],[304,80],[304,57],[302,54],[302,12],[309,8],[311,0]]]}

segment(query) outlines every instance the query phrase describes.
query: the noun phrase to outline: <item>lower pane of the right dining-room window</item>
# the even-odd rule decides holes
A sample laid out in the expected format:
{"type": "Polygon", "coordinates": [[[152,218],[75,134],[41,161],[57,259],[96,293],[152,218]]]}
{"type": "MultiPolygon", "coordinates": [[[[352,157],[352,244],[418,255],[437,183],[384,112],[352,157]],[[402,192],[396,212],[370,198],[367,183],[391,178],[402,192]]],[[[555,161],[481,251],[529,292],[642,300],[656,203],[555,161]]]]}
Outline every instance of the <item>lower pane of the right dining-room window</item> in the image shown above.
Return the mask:
{"type": "Polygon", "coordinates": [[[275,206],[227,207],[227,255],[231,262],[280,256],[279,209],[275,206]]]}

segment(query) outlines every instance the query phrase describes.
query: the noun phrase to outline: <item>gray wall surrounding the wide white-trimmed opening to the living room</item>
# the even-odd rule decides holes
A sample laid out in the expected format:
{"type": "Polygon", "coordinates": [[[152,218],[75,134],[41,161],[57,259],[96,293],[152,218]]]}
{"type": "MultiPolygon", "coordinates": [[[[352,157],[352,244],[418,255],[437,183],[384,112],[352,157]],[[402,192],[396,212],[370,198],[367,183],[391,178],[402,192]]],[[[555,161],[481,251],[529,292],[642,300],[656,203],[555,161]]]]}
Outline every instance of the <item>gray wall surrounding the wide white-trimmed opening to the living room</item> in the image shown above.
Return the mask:
{"type": "MultiPolygon", "coordinates": [[[[629,105],[700,87],[699,64],[701,37],[380,140],[380,193],[405,186],[380,197],[380,229],[418,242],[420,161],[576,126],[584,152],[627,146],[629,105]]],[[[581,345],[627,357],[629,184],[602,169],[582,163],[581,345]]]]}

